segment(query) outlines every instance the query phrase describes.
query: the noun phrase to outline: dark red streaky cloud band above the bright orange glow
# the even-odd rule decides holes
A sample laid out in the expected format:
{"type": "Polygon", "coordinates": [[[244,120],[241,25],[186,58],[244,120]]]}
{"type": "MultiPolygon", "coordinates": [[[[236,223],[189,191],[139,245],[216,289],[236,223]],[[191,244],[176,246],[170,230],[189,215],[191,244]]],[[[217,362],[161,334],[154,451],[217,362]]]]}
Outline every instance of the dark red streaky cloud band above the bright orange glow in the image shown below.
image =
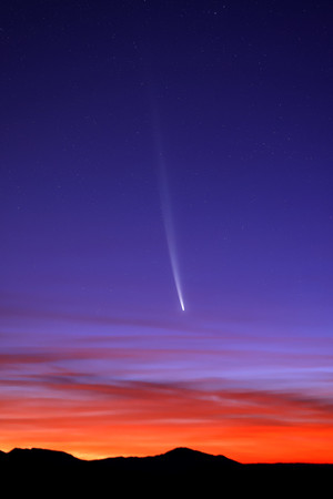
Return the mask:
{"type": "MultiPolygon", "coordinates": [[[[6,381],[2,380],[6,385],[6,381]]],[[[84,373],[54,371],[30,376],[17,381],[27,390],[30,385],[37,394],[42,390],[57,399],[81,400],[90,407],[90,414],[117,415],[119,420],[178,420],[232,425],[302,425],[331,424],[333,401],[326,397],[309,397],[303,393],[263,389],[234,389],[228,380],[220,389],[211,389],[209,383],[148,383],[140,380],[101,380],[84,373]]],[[[12,381],[10,383],[12,386],[12,381]]],[[[27,397],[27,396],[26,396],[27,397]]],[[[34,399],[32,391],[31,400],[34,399]]],[[[38,399],[38,396],[37,396],[38,399]]]]}

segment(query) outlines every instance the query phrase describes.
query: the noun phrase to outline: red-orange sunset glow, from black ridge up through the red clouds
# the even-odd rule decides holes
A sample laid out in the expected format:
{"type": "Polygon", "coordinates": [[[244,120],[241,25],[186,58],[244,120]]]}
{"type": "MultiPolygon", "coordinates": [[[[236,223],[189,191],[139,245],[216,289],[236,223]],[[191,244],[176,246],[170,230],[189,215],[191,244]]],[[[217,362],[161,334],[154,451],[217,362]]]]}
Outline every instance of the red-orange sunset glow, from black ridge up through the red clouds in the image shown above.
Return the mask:
{"type": "Polygon", "coordinates": [[[48,448],[90,460],[189,447],[242,464],[333,464],[330,414],[313,401],[264,391],[113,388],[90,387],[98,395],[87,404],[80,397],[2,401],[1,450],[48,448]]]}

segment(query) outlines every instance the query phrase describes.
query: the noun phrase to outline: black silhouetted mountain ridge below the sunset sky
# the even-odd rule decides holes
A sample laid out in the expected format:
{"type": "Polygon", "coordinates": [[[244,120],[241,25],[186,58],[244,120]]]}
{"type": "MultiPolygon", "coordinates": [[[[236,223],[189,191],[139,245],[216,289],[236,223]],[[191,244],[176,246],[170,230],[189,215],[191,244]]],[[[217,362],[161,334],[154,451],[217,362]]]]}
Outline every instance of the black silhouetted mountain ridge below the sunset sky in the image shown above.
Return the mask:
{"type": "Polygon", "coordinates": [[[97,460],[82,460],[56,450],[16,448],[0,451],[0,473],[3,485],[14,483],[21,493],[58,491],[64,497],[120,489],[125,497],[138,492],[151,497],[198,492],[206,497],[215,496],[216,490],[221,497],[249,492],[255,492],[256,497],[268,497],[271,492],[286,497],[313,492],[321,497],[321,490],[324,496],[331,486],[333,465],[243,465],[225,456],[188,448],[158,456],[97,460]],[[47,483],[47,489],[41,483],[47,483]]]}

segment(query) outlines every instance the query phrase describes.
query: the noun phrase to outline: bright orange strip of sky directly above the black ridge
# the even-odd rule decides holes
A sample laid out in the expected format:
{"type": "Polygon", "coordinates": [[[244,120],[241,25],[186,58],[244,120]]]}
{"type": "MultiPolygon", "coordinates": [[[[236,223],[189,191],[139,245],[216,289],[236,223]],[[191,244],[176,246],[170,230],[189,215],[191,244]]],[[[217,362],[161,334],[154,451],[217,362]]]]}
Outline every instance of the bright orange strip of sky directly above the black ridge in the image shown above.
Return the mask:
{"type": "Polygon", "coordinates": [[[13,448],[48,448],[68,452],[79,459],[93,460],[109,457],[145,457],[164,454],[175,447],[188,447],[211,455],[223,455],[230,459],[242,464],[256,462],[307,462],[307,464],[333,464],[332,444],[333,429],[323,431],[322,428],[270,428],[261,431],[258,428],[238,428],[238,431],[230,431],[222,436],[219,442],[212,442],[212,432],[204,434],[208,442],[203,442],[203,429],[198,428],[198,435],[193,435],[194,428],[190,431],[183,428],[165,429],[131,428],[127,429],[123,442],[114,437],[121,434],[123,428],[114,428],[112,434],[114,444],[103,442],[103,431],[100,434],[87,435],[82,441],[72,442],[71,438],[57,436],[36,436],[36,438],[24,438],[23,436],[10,436],[1,438],[7,444],[0,450],[9,452],[13,448]],[[138,434],[147,434],[147,441],[140,441],[138,434]],[[161,431],[162,430],[162,436],[161,431]],[[165,430],[165,435],[163,435],[165,430]],[[134,444],[131,442],[134,441],[134,444]],[[153,441],[151,441],[153,440],[153,441]],[[285,447],[286,446],[286,447],[285,447]],[[290,447],[287,447],[290,446],[290,447]],[[109,448],[109,450],[108,450],[109,448]],[[330,449],[331,448],[331,449],[330,449]],[[324,449],[324,450],[323,450],[324,449]]]}

